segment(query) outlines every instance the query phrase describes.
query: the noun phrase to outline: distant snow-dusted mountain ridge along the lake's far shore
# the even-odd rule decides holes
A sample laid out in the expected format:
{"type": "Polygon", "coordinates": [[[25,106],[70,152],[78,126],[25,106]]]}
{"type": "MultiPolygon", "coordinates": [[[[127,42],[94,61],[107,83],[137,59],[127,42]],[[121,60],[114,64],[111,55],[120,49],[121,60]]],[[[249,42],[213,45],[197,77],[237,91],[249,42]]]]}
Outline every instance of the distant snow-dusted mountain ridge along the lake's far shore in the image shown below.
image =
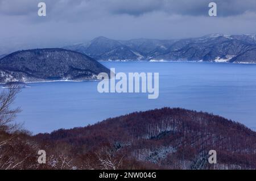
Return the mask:
{"type": "Polygon", "coordinates": [[[256,35],[211,34],[180,40],[133,39],[127,41],[100,36],[87,43],[64,48],[102,61],[256,63],[256,35]]]}

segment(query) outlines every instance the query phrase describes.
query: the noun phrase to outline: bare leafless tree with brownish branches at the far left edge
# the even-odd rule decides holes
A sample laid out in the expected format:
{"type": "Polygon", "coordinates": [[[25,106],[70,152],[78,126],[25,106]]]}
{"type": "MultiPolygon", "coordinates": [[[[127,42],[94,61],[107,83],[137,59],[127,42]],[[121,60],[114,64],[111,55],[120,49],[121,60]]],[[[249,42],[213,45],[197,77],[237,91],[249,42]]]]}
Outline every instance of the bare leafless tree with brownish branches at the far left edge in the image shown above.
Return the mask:
{"type": "MultiPolygon", "coordinates": [[[[19,125],[14,123],[19,108],[12,109],[16,94],[20,89],[12,86],[0,93],[0,169],[24,169],[28,160],[36,153],[35,144],[22,140],[19,125]],[[19,136],[18,136],[19,135],[19,136]]],[[[29,167],[28,167],[29,168],[29,167]]]]}

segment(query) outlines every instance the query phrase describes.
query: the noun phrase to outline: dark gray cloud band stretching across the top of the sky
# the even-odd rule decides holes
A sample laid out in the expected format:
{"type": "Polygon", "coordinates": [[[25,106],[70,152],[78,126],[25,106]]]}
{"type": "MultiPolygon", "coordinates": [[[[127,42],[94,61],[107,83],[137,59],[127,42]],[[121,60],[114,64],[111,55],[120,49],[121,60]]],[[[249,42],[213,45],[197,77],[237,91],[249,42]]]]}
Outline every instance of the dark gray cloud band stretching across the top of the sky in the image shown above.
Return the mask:
{"type": "Polygon", "coordinates": [[[46,2],[48,11],[57,16],[97,14],[142,15],[155,11],[168,14],[207,16],[209,2],[216,2],[219,16],[256,12],[254,0],[0,0],[0,14],[28,15],[35,12],[38,2],[46,2]]]}

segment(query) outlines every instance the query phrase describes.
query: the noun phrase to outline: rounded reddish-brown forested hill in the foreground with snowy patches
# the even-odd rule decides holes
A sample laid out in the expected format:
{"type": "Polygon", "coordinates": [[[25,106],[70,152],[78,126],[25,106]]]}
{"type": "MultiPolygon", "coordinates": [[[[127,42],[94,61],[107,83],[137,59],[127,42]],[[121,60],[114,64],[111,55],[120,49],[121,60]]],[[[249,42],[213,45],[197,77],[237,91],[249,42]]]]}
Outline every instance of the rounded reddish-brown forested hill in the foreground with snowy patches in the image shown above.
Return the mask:
{"type": "Polygon", "coordinates": [[[82,169],[101,169],[108,157],[119,169],[256,169],[256,132],[181,108],[134,112],[35,138],[67,148],[73,164],[82,169]],[[217,151],[217,164],[208,163],[209,150],[217,151]]]}

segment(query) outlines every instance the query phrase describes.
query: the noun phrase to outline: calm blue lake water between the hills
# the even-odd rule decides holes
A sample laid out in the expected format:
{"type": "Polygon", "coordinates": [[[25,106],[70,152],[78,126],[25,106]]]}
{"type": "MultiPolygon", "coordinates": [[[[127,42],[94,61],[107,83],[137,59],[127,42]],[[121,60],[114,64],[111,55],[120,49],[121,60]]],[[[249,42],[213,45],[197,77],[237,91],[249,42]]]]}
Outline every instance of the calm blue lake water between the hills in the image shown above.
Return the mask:
{"type": "Polygon", "coordinates": [[[98,82],[32,83],[14,106],[16,121],[33,133],[84,127],[108,117],[152,108],[207,111],[256,130],[256,65],[189,62],[102,62],[118,72],[158,72],[159,98],[104,93],[98,82]]]}

